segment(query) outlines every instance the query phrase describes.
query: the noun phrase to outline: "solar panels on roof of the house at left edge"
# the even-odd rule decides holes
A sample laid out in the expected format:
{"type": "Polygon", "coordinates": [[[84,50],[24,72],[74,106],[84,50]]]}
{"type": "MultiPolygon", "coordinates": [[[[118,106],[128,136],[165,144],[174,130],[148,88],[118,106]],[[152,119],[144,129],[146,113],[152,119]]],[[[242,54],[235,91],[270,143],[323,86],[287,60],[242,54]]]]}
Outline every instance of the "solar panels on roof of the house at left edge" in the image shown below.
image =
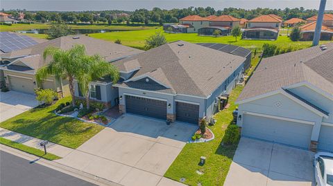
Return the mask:
{"type": "Polygon", "coordinates": [[[17,35],[12,32],[0,32],[0,50],[3,53],[9,53],[13,50],[19,50],[38,44],[37,41],[26,35],[17,35]]]}

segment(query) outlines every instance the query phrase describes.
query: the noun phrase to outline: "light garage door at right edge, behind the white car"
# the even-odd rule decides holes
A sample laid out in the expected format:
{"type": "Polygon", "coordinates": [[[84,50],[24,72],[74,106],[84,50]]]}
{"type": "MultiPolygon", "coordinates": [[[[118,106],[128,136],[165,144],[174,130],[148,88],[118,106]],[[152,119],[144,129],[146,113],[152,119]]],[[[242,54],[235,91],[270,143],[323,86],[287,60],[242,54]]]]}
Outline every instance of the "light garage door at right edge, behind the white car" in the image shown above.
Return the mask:
{"type": "Polygon", "coordinates": [[[319,134],[318,149],[333,152],[333,126],[321,125],[319,134]]]}

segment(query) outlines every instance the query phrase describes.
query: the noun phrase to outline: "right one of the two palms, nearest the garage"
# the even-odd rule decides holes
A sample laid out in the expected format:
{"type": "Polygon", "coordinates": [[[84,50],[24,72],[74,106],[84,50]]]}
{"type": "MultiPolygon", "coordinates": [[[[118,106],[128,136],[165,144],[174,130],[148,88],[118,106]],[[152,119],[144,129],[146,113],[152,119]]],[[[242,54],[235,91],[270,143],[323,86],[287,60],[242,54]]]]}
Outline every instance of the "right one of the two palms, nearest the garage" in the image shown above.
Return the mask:
{"type": "Polygon", "coordinates": [[[116,83],[119,80],[119,71],[112,64],[106,62],[99,55],[88,56],[85,55],[78,67],[78,74],[76,79],[80,86],[80,91],[85,96],[87,102],[87,109],[89,106],[89,83],[99,80],[101,77],[110,75],[112,82],[116,83]]]}

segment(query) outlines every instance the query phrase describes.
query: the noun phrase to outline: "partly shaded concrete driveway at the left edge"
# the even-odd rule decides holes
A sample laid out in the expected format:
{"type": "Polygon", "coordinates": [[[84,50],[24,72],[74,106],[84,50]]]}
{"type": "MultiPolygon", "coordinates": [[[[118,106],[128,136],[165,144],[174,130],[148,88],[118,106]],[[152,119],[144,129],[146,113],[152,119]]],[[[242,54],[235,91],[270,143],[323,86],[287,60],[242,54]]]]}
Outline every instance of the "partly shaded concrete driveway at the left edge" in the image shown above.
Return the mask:
{"type": "Polygon", "coordinates": [[[37,105],[35,95],[15,91],[0,92],[0,122],[28,111],[37,105]]]}

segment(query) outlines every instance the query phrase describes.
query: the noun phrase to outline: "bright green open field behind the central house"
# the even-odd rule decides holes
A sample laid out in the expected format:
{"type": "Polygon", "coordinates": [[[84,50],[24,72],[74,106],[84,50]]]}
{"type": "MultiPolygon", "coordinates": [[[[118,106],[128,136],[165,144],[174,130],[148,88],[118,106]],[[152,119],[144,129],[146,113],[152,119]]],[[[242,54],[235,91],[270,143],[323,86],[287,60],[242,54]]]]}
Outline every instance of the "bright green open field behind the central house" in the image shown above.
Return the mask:
{"type": "MultiPolygon", "coordinates": [[[[107,41],[115,41],[116,39],[121,39],[121,44],[126,46],[132,46],[135,48],[143,48],[145,44],[145,39],[150,35],[155,34],[156,31],[162,31],[162,28],[152,29],[152,30],[135,30],[135,31],[126,31],[126,32],[106,32],[106,33],[96,33],[90,34],[91,37],[98,39],[104,39],[107,41]]],[[[163,32],[163,31],[162,31],[163,32]]],[[[257,52],[261,52],[262,45],[264,43],[275,44],[281,48],[288,48],[291,46],[295,49],[302,49],[311,46],[311,41],[291,41],[287,36],[279,36],[276,41],[266,41],[266,40],[242,40],[241,37],[238,37],[237,42],[232,36],[224,37],[211,37],[211,36],[198,36],[196,33],[178,33],[178,34],[169,34],[164,33],[167,41],[189,41],[191,43],[221,43],[221,44],[233,44],[237,46],[242,46],[250,50],[257,48],[257,52]]],[[[325,43],[328,41],[322,41],[325,43]]]]}

